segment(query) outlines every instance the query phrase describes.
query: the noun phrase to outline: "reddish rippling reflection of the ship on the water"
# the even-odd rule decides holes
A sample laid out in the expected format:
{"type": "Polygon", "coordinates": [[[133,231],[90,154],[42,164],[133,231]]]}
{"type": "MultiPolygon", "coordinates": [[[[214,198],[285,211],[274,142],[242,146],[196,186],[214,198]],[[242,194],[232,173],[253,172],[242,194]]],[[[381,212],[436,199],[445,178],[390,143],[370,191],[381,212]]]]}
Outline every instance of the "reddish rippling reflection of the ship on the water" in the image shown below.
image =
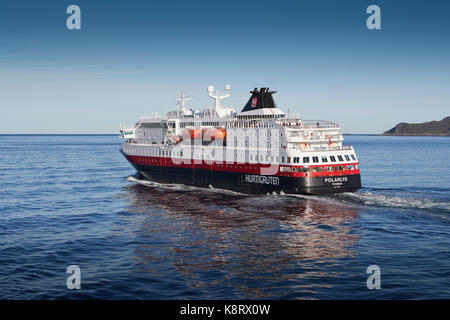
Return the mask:
{"type": "Polygon", "coordinates": [[[193,289],[229,287],[237,297],[331,286],[339,276],[332,266],[351,257],[360,238],[352,227],[358,209],[338,202],[142,185],[128,186],[125,196],[128,214],[116,227],[136,239],[139,269],[174,272],[193,289]]]}

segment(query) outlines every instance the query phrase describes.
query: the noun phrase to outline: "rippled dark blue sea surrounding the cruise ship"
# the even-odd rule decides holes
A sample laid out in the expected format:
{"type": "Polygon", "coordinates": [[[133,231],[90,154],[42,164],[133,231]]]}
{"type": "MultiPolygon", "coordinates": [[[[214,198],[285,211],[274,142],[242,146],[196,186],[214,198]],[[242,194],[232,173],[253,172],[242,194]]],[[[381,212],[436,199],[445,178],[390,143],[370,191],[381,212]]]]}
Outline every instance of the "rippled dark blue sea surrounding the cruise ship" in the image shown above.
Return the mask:
{"type": "Polygon", "coordinates": [[[346,136],[363,188],[321,197],[136,181],[121,142],[0,135],[1,299],[450,298],[450,138],[346,136]]]}

